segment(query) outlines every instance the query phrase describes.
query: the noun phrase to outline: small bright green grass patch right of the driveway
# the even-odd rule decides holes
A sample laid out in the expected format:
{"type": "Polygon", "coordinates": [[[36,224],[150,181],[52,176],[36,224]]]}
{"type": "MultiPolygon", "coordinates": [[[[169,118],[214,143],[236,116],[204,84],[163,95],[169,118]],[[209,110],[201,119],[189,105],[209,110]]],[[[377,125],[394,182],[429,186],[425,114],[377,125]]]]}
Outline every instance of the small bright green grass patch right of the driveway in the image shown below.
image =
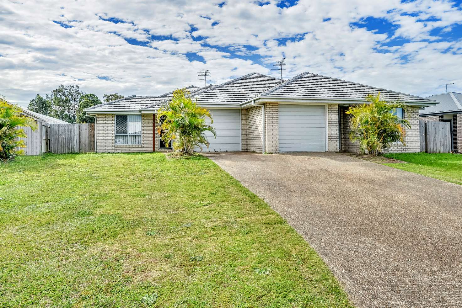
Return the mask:
{"type": "Polygon", "coordinates": [[[385,156],[407,163],[384,163],[384,165],[462,185],[462,155],[460,154],[397,153],[385,156]]]}

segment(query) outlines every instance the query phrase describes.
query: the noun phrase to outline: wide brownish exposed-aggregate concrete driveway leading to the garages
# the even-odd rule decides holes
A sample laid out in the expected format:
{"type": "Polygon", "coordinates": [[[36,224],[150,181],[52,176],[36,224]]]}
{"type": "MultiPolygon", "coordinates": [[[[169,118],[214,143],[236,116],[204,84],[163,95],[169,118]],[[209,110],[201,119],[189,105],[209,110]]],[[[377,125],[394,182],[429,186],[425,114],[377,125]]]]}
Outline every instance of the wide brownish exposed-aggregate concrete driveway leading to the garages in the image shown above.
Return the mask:
{"type": "Polygon", "coordinates": [[[304,236],[358,307],[462,307],[462,186],[326,152],[207,156],[304,236]]]}

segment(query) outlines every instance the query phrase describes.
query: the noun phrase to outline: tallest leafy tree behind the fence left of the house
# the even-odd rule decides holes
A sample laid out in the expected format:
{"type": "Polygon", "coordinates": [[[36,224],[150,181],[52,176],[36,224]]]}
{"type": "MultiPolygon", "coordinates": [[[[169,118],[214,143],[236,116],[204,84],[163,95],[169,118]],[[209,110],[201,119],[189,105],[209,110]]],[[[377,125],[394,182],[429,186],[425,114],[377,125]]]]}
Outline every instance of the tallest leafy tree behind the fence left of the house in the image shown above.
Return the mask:
{"type": "Polygon", "coordinates": [[[51,102],[53,115],[63,121],[75,123],[79,98],[84,94],[78,85],[60,85],[51,94],[47,94],[47,100],[51,102]]]}

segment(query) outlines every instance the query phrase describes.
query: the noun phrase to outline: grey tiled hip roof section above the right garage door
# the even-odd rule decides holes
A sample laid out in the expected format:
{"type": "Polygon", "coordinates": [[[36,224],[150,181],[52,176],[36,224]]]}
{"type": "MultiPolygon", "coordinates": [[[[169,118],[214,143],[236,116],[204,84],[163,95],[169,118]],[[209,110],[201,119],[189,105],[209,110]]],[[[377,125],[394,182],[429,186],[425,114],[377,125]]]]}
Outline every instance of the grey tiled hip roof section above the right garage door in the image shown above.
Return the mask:
{"type": "Polygon", "coordinates": [[[263,91],[261,96],[276,97],[304,97],[320,99],[364,100],[368,94],[377,95],[384,100],[398,100],[403,102],[426,102],[430,100],[400,92],[361,85],[351,81],[317,75],[310,72],[301,73],[280,85],[263,91]]]}

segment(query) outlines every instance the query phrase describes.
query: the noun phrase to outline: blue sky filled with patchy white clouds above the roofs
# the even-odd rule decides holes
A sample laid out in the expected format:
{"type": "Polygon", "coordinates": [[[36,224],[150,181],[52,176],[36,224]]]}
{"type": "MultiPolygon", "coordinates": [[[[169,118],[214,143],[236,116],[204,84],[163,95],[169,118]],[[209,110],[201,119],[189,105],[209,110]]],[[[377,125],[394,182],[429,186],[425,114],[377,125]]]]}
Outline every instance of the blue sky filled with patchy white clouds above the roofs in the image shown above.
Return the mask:
{"type": "Polygon", "coordinates": [[[462,92],[462,0],[0,1],[0,95],[160,95],[250,72],[462,92]]]}

